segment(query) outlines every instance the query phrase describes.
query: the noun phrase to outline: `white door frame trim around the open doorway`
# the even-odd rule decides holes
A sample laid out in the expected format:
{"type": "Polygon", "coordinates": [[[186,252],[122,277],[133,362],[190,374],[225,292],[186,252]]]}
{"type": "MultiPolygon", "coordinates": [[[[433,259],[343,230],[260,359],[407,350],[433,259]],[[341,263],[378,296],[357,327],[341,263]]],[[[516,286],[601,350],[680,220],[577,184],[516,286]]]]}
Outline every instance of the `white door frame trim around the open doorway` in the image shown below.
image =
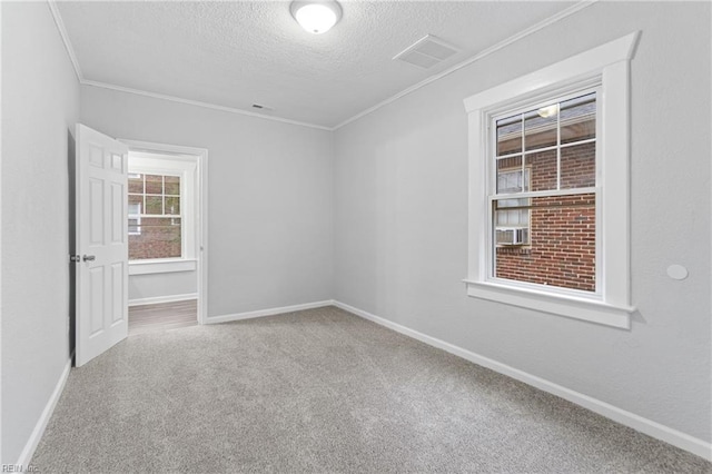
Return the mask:
{"type": "Polygon", "coordinates": [[[206,324],[208,317],[208,150],[206,148],[184,147],[179,145],[156,144],[151,141],[119,138],[131,151],[146,151],[157,155],[190,156],[197,158],[196,170],[196,258],[198,279],[198,324],[206,324]]]}

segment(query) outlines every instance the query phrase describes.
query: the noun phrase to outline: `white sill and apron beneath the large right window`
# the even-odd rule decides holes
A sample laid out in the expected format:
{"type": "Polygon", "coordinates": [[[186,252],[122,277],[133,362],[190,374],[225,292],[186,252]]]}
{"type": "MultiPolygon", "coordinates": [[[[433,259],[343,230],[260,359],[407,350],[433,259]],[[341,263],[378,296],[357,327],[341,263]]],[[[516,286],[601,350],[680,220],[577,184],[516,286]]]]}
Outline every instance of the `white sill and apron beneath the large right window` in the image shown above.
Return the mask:
{"type": "Polygon", "coordinates": [[[575,296],[553,295],[526,288],[513,288],[490,282],[473,282],[468,279],[463,282],[467,285],[467,295],[475,298],[504,303],[623,329],[631,328],[631,314],[635,312],[634,307],[611,305],[603,302],[577,298],[575,296]]]}

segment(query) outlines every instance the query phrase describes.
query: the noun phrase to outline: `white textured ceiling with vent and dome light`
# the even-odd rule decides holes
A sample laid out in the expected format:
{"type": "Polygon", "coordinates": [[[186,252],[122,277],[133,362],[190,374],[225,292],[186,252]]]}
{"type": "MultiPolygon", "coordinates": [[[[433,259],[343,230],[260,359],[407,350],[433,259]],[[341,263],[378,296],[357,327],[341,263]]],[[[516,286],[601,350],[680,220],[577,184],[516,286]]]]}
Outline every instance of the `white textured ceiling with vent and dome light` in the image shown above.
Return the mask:
{"type": "Polygon", "coordinates": [[[342,1],[314,36],[288,1],[60,2],[86,81],[334,127],[574,2],[342,1]],[[392,58],[435,34],[462,49],[432,69],[392,58]]]}

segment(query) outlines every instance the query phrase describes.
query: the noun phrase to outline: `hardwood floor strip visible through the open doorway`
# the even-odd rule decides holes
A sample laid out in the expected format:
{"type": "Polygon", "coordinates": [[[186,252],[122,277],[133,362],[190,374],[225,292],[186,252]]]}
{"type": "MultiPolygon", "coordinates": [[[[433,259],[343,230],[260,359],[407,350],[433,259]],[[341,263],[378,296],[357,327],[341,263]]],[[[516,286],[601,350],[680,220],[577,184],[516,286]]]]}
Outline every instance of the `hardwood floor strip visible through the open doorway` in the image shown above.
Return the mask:
{"type": "Polygon", "coordinates": [[[196,326],[197,324],[197,299],[129,307],[129,336],[196,326]]]}

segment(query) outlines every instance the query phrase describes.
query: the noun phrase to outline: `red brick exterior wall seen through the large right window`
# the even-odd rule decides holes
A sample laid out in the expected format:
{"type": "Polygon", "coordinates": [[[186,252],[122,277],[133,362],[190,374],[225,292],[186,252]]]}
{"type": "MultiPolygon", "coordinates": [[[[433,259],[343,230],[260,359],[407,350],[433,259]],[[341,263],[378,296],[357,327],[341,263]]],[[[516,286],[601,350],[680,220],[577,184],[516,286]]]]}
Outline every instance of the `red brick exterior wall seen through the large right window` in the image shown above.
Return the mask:
{"type": "MultiPolygon", "coordinates": [[[[500,169],[521,167],[521,158],[500,169]]],[[[556,152],[527,156],[530,188],[556,189],[556,152]]],[[[562,149],[561,187],[595,186],[595,144],[562,149]]],[[[520,282],[595,290],[595,195],[532,198],[530,245],[498,246],[495,275],[520,282]]]]}

